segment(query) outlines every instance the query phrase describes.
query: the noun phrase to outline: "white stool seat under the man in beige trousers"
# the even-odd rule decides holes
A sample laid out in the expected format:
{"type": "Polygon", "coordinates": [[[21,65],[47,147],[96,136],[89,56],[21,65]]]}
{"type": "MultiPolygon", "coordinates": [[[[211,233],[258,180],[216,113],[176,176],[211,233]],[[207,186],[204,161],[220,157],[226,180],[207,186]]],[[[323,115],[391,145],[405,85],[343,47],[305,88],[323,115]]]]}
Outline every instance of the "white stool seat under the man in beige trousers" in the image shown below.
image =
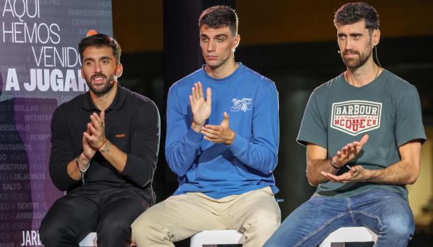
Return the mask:
{"type": "Polygon", "coordinates": [[[242,244],[242,233],[237,230],[205,230],[191,237],[190,247],[216,247],[217,244],[242,244]],[[209,246],[211,245],[211,246],[209,246]]]}

